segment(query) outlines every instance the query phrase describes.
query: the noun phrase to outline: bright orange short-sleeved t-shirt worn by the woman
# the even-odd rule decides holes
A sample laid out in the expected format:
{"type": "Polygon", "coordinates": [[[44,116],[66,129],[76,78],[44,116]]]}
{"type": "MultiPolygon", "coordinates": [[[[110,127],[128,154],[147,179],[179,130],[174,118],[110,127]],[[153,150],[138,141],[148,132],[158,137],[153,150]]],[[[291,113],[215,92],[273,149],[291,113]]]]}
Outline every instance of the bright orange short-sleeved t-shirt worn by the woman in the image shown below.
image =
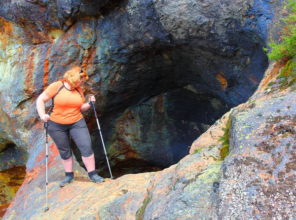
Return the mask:
{"type": "Polygon", "coordinates": [[[60,124],[73,124],[79,121],[83,115],[80,111],[82,104],[85,102],[84,95],[81,88],[69,90],[63,86],[62,81],[51,83],[44,92],[54,99],[48,114],[49,120],[60,124]]]}

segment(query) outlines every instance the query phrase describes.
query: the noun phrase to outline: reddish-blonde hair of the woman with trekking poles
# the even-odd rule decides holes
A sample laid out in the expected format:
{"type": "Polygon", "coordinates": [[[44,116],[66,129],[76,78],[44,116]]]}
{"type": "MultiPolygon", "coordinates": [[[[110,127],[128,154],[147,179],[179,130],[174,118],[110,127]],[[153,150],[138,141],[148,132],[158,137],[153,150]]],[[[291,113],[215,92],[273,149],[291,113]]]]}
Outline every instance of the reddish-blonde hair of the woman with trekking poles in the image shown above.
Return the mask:
{"type": "Polygon", "coordinates": [[[81,67],[73,67],[71,70],[66,71],[62,82],[67,82],[71,89],[75,89],[75,84],[85,77],[85,81],[88,80],[88,75],[81,67]],[[82,73],[81,73],[82,72],[82,73]]]}

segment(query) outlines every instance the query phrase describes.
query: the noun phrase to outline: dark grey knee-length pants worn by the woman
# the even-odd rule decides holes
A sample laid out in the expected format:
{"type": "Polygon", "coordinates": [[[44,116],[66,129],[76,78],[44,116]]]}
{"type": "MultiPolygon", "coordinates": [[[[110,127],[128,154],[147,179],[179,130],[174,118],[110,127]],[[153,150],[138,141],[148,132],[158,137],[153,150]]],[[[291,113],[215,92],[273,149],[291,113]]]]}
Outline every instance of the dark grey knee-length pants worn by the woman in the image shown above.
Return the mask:
{"type": "Polygon", "coordinates": [[[70,136],[79,148],[81,156],[89,157],[94,153],[84,118],[73,124],[59,124],[49,120],[47,131],[58,147],[63,160],[72,156],[70,136]]]}

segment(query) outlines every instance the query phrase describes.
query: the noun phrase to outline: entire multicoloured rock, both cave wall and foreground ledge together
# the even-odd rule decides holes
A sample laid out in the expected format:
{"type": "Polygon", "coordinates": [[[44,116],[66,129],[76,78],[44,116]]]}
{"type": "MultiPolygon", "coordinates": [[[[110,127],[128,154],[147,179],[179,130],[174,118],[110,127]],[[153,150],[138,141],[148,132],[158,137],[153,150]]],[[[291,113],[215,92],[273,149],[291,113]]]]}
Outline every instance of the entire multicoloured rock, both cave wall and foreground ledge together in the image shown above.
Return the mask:
{"type": "MultiPolygon", "coordinates": [[[[270,65],[261,81],[278,4],[1,1],[0,169],[27,161],[4,219],[296,218],[295,87],[277,78],[284,64],[270,65]],[[89,183],[74,146],[76,181],[59,188],[63,168],[49,139],[44,213],[45,132],[35,101],[72,65],[89,73],[83,89],[99,100],[119,178],[89,183]],[[227,122],[230,154],[222,161],[227,122]],[[8,166],[7,157],[18,159],[8,166]]],[[[84,116],[98,171],[109,177],[93,110],[84,116]]]]}

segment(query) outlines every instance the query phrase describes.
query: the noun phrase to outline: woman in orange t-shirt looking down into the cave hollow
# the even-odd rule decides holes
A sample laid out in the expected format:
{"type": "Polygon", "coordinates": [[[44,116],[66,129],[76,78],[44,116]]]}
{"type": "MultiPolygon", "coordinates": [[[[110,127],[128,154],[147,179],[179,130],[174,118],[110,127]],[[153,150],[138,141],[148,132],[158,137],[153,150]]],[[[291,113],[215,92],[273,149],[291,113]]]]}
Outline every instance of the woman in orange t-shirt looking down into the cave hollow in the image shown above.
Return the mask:
{"type": "Polygon", "coordinates": [[[79,86],[86,80],[88,80],[87,73],[80,67],[74,67],[65,73],[62,80],[50,84],[36,101],[38,114],[44,122],[48,122],[48,134],[56,144],[63,161],[66,177],[60,186],[74,181],[70,137],[81,152],[90,181],[95,183],[105,181],[95,170],[94,151],[81,113],[90,108],[90,102],[96,101],[94,96],[90,96],[88,102],[84,103],[84,95],[79,86]],[[44,103],[50,99],[52,99],[51,108],[45,113],[44,103]]]}

